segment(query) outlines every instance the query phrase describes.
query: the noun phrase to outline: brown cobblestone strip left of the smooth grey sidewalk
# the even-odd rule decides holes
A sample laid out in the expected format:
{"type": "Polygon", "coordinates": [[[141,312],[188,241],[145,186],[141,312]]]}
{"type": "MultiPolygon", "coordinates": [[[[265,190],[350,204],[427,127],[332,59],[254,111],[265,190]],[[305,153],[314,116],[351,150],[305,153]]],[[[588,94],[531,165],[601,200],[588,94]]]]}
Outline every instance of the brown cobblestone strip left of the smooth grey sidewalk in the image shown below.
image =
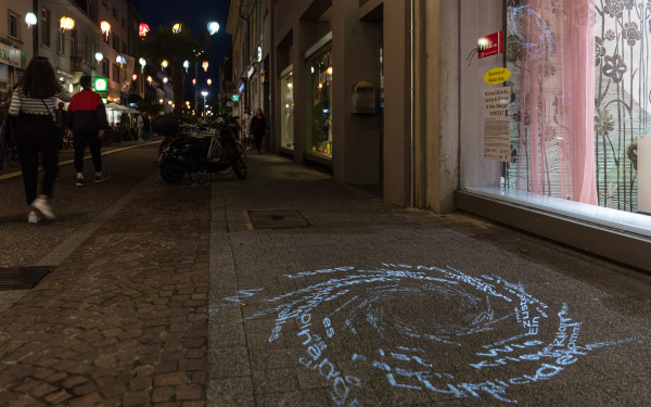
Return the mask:
{"type": "Polygon", "coordinates": [[[0,314],[0,405],[204,406],[209,199],[156,180],[0,314]]]}

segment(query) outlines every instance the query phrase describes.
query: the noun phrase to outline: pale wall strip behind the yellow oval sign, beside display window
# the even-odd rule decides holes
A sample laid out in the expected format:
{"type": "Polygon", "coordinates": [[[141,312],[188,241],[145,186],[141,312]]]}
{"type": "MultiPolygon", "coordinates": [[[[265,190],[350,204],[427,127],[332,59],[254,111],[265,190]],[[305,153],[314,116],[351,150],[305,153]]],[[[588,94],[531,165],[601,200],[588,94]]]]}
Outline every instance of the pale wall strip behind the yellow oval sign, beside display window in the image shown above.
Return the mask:
{"type": "MultiPolygon", "coordinates": [[[[462,60],[477,47],[477,39],[502,29],[501,0],[461,0],[461,43],[462,60]]],[[[461,158],[460,189],[470,187],[499,186],[501,163],[483,157],[484,90],[495,85],[484,82],[484,74],[503,66],[503,54],[482,60],[473,59],[470,66],[461,64],[461,158]]]]}

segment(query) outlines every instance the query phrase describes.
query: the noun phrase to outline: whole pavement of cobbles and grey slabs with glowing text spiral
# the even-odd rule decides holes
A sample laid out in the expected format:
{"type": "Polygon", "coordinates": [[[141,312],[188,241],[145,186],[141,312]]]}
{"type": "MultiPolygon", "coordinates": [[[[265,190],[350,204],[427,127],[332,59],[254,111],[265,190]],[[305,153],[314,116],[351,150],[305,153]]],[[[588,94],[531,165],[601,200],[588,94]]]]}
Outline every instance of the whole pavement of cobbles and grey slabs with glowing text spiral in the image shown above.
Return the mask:
{"type": "Polygon", "coordinates": [[[155,179],[1,313],[0,405],[651,404],[649,276],[250,164],[155,179]]]}

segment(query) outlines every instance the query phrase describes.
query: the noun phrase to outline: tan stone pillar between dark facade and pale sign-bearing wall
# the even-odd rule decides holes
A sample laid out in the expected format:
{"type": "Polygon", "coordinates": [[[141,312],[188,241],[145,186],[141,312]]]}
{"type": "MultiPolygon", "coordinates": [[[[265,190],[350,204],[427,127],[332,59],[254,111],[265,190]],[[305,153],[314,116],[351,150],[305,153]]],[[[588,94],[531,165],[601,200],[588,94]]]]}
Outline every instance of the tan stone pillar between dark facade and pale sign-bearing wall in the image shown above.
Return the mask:
{"type": "Polygon", "coordinates": [[[459,165],[459,7],[416,1],[416,206],[455,209],[459,165]]]}

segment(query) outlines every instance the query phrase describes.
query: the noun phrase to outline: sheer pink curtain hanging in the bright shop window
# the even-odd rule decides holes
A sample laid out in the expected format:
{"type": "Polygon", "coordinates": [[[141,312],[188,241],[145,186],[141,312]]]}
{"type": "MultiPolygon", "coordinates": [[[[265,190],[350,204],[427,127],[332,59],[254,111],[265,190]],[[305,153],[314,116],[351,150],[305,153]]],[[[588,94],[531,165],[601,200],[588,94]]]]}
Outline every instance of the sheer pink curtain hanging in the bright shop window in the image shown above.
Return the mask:
{"type": "Polygon", "coordinates": [[[595,0],[526,0],[518,188],[597,205],[595,0]]]}

